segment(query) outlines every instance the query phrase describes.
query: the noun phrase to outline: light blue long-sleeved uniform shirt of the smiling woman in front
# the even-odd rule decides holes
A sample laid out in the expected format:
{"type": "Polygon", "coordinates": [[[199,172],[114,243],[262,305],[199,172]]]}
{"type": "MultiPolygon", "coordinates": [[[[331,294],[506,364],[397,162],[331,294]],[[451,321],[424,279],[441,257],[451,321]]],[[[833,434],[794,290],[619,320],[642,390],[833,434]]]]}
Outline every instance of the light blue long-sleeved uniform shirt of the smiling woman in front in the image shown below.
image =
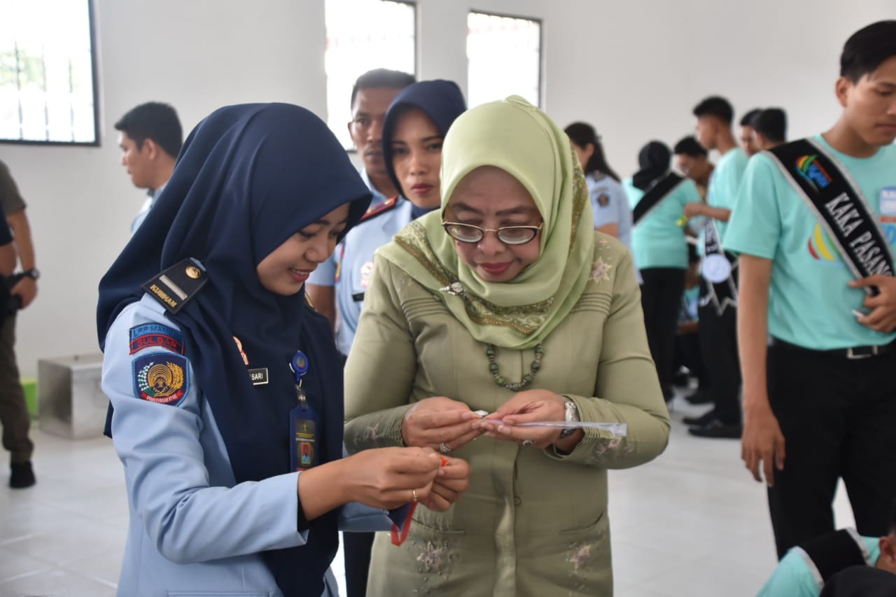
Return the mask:
{"type": "MultiPolygon", "coordinates": [[[[158,345],[131,354],[130,330],[142,324],[177,331],[164,308],[144,295],[116,317],[103,359],[102,388],[115,407],[113,441],[125,465],[130,511],[118,594],[281,597],[261,552],[304,545],[314,532],[297,531],[301,473],[237,484],[189,363],[186,393],[177,406],[136,397],[135,359],[177,354],[158,345]]],[[[344,530],[391,525],[383,510],[350,504],[340,511],[344,530]]],[[[323,595],[338,594],[334,581],[328,573],[323,595]]]]}

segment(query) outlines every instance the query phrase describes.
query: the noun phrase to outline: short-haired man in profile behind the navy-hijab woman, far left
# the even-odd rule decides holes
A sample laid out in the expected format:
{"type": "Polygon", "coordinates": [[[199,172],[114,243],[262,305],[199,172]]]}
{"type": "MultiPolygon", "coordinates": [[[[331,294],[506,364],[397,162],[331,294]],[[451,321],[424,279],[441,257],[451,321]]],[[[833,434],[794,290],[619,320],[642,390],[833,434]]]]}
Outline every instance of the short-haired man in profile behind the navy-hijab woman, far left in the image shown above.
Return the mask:
{"type": "Polygon", "coordinates": [[[131,234],[146,220],[174,170],[184,143],[177,112],[168,104],[150,101],[130,109],[115,124],[121,163],[137,188],[149,197],[131,222],[131,234]]]}

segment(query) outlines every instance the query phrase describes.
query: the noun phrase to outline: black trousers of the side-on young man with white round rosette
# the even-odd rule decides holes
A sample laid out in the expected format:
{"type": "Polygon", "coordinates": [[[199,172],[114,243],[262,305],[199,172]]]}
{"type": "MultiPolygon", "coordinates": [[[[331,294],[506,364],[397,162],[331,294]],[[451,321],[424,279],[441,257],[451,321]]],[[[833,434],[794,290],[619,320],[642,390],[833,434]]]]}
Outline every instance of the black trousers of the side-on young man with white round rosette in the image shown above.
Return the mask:
{"type": "MultiPolygon", "coordinates": [[[[705,284],[705,281],[701,281],[705,284]]],[[[710,303],[698,309],[700,349],[704,378],[708,384],[716,418],[727,425],[740,425],[740,359],[737,353],[737,308],[719,310],[710,303]]]]}

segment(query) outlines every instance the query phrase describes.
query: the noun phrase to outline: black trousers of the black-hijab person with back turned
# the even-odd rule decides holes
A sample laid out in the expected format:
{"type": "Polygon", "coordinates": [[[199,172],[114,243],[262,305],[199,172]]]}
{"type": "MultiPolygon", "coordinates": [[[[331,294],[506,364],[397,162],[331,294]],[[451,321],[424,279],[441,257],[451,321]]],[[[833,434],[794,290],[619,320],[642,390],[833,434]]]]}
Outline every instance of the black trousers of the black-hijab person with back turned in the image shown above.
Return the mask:
{"type": "Polygon", "coordinates": [[[641,307],[650,356],[657,366],[659,386],[667,394],[672,389],[672,365],[678,307],[685,292],[685,270],[677,267],[649,267],[641,270],[641,307]]]}

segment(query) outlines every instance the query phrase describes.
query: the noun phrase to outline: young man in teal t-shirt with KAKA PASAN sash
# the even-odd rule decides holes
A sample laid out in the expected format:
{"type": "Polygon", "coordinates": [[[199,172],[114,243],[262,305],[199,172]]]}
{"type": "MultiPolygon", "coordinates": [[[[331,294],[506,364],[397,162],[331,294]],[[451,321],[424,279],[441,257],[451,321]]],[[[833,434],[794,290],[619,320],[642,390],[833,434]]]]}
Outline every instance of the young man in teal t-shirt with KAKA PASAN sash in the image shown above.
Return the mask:
{"type": "MultiPolygon", "coordinates": [[[[858,30],[840,56],[843,110],[819,153],[863,195],[896,247],[896,21],[858,30]]],[[[750,160],[724,238],[740,254],[742,457],[769,485],[778,555],[833,529],[842,478],[857,531],[887,532],[896,496],[896,278],[855,279],[770,154],[750,160]],[[879,290],[875,296],[863,290],[879,290]],[[771,336],[771,345],[769,345],[771,336]]]]}

